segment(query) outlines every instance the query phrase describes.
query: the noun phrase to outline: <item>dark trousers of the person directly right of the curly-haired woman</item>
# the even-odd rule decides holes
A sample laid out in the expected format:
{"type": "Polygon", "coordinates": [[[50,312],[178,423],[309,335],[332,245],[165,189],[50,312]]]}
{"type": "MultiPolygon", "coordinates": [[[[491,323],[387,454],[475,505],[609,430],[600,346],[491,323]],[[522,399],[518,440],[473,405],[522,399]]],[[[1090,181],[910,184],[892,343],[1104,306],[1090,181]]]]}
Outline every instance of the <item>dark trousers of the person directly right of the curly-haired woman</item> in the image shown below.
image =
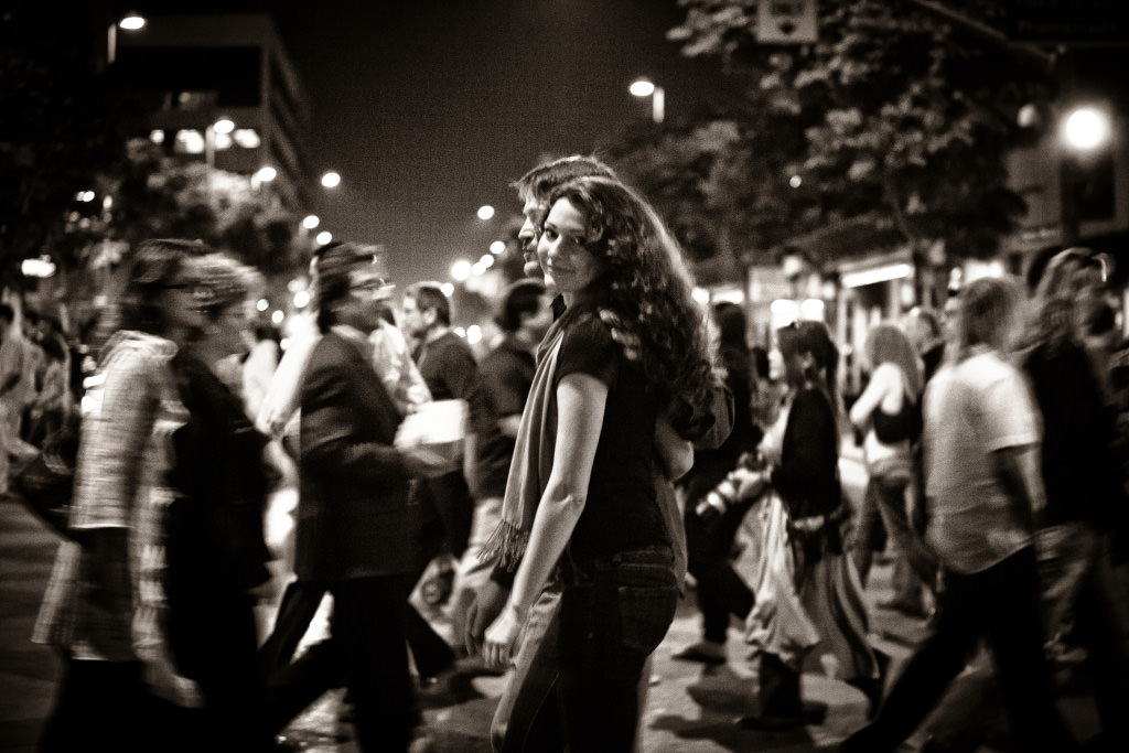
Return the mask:
{"type": "Polygon", "coordinates": [[[684,523],[688,569],[698,583],[702,637],[715,643],[724,643],[729,629],[729,615],[745,619],[755,602],[752,589],[737,575],[730,559],[737,528],[749,508],[735,502],[711,523],[702,522],[693,508],[693,505],[686,505],[684,523]]]}

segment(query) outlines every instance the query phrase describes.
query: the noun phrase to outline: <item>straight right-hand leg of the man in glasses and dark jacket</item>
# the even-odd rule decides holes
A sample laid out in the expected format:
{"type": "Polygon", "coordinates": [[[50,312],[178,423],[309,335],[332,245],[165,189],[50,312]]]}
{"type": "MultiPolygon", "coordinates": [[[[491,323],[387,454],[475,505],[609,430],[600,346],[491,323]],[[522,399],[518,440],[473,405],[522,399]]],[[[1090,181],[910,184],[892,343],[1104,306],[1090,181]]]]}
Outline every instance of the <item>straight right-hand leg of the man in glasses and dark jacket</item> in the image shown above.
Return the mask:
{"type": "Polygon", "coordinates": [[[333,638],[341,642],[361,751],[406,751],[418,718],[404,640],[409,576],[333,586],[333,638]]]}

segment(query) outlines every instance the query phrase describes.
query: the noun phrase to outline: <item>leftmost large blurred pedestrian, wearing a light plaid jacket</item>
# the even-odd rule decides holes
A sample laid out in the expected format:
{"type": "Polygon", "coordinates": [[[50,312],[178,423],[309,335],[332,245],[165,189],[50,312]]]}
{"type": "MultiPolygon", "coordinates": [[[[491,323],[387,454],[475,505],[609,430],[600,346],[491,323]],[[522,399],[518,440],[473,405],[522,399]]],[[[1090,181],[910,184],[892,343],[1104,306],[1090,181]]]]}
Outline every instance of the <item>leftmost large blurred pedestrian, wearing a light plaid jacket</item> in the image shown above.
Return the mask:
{"type": "Polygon", "coordinates": [[[33,640],[59,647],[64,667],[42,751],[102,746],[181,750],[165,736],[200,706],[176,667],[164,598],[164,516],[174,499],[169,440],[187,412],[170,361],[202,325],[184,262],[202,246],[147,240],[132,251],[128,283],[104,326],[82,419],[69,525],[33,640]]]}

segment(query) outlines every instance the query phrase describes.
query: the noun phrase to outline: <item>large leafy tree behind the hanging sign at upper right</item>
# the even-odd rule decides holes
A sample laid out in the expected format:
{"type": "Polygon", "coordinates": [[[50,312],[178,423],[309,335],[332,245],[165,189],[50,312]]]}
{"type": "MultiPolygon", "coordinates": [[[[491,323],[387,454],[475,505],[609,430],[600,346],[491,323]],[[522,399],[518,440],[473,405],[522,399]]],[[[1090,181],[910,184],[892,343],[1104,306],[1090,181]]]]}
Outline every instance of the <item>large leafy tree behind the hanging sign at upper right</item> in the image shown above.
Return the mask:
{"type": "Polygon", "coordinates": [[[751,0],[680,5],[669,38],[721,56],[746,90],[739,138],[714,159],[729,178],[701,183],[703,209],[726,202],[711,191],[730,192],[761,243],[861,222],[921,262],[930,247],[990,256],[1014,228],[1025,207],[1004,158],[1025,138],[1016,112],[1052,82],[992,33],[1004,3],[949,0],[972,21],[954,24],[910,0],[821,0],[819,41],[796,46],[756,43],[751,0]],[[781,187],[794,178],[798,190],[781,187]]]}

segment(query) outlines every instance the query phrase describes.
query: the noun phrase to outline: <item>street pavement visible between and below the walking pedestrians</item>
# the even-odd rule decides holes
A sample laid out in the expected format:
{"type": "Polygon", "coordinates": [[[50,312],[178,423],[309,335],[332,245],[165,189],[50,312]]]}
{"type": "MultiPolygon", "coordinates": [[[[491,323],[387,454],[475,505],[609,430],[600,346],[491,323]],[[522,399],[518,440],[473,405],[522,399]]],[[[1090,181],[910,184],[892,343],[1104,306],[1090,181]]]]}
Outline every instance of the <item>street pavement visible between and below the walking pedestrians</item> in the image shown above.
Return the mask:
{"type": "MultiPolygon", "coordinates": [[[[842,475],[852,500],[861,493],[865,474],[857,458],[843,458],[842,475]]],[[[0,502],[0,751],[27,753],[53,702],[59,662],[46,647],[28,640],[50,572],[56,540],[24,508],[0,502]]],[[[741,567],[747,567],[744,559],[741,567]]],[[[924,623],[875,605],[891,596],[891,566],[876,562],[867,588],[872,606],[872,641],[894,658],[892,672],[922,634],[924,623]]],[[[655,653],[647,703],[642,750],[647,753],[694,751],[829,751],[861,726],[865,701],[860,692],[841,682],[813,674],[803,677],[805,703],[825,707],[822,724],[787,730],[746,730],[735,720],[751,708],[751,671],[745,662],[742,633],[730,628],[728,663],[719,667],[672,658],[679,648],[698,639],[698,616],[692,592],[679,608],[666,640],[655,653]]],[[[318,620],[315,619],[315,629],[318,620]]],[[[430,746],[436,753],[488,752],[490,718],[504,678],[458,675],[447,689],[423,697],[430,746]]],[[[330,693],[286,730],[295,745],[313,753],[357,747],[347,724],[339,725],[341,692],[330,693]]],[[[1085,739],[1095,730],[1092,703],[1085,692],[1071,692],[1062,708],[1076,734],[1085,739]]],[[[911,741],[912,742],[912,741],[911,741]]],[[[907,745],[904,750],[917,750],[907,745]]],[[[981,746],[988,753],[995,747],[981,746]]],[[[1000,751],[1005,748],[998,748],[1000,751]]]]}

